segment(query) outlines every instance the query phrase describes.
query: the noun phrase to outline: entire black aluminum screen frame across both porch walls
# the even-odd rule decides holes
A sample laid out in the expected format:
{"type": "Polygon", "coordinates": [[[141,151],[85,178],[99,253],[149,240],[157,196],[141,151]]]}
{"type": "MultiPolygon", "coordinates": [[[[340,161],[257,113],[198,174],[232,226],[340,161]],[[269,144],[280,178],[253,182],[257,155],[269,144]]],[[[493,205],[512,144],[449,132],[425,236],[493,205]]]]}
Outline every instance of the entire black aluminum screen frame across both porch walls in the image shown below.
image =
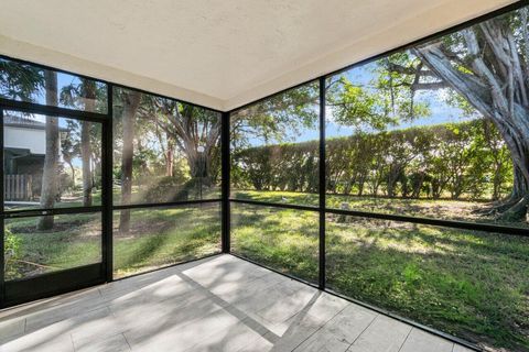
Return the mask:
{"type": "MultiPolygon", "coordinates": [[[[101,279],[100,280],[90,280],[90,282],[82,282],[77,283],[75,286],[69,287],[66,290],[75,290],[79,289],[86,286],[91,286],[91,285],[97,285],[101,283],[108,283],[114,280],[114,271],[112,271],[112,212],[115,210],[121,210],[121,209],[137,209],[137,208],[149,208],[149,207],[171,207],[171,206],[185,206],[185,205],[197,205],[197,204],[205,204],[205,202],[219,202],[222,205],[222,252],[223,253],[230,253],[230,204],[236,202],[236,204],[248,204],[248,205],[256,205],[256,206],[262,206],[262,207],[274,207],[274,208],[287,208],[287,209],[298,209],[298,210],[306,210],[306,211],[315,211],[319,212],[320,215],[320,229],[319,229],[319,239],[320,239],[320,263],[319,263],[319,283],[317,285],[314,285],[312,283],[305,282],[299,277],[294,277],[291,275],[288,275],[285,273],[281,273],[279,271],[276,271],[273,268],[270,268],[281,275],[285,275],[288,277],[291,277],[292,279],[296,279],[299,282],[303,282],[307,285],[311,285],[313,287],[317,287],[319,289],[322,289],[326,293],[330,293],[332,295],[336,295],[338,297],[342,297],[344,299],[347,299],[349,301],[354,301],[356,304],[363,305],[365,307],[368,307],[370,309],[374,309],[382,315],[396,318],[398,320],[404,321],[415,328],[432,332],[434,334],[441,336],[445,339],[449,339],[451,341],[464,344],[473,350],[481,351],[478,346],[476,346],[473,343],[469,343],[467,341],[464,341],[462,339],[458,339],[456,337],[446,334],[444,332],[438,331],[435,329],[432,329],[430,327],[422,326],[418,322],[410,321],[406,318],[402,318],[398,315],[395,315],[392,312],[386,311],[384,309],[380,309],[378,307],[370,306],[368,304],[357,301],[355,299],[352,299],[350,297],[343,296],[338,293],[333,292],[332,289],[326,287],[325,283],[325,216],[326,213],[336,213],[336,215],[344,215],[344,216],[354,216],[354,217],[365,217],[365,218],[373,218],[373,219],[385,219],[385,220],[395,220],[395,221],[403,221],[403,222],[413,222],[413,223],[422,223],[422,224],[430,224],[430,226],[440,226],[440,227],[447,227],[447,228],[457,228],[457,229],[466,229],[466,230],[478,230],[478,231],[486,231],[486,232],[497,232],[497,233],[505,233],[505,234],[511,234],[511,235],[523,235],[523,237],[529,237],[529,231],[527,229],[522,228],[515,228],[515,227],[505,227],[505,226],[496,226],[496,224],[487,224],[487,223],[476,223],[476,222],[467,222],[467,221],[454,221],[454,220],[439,220],[439,219],[432,219],[432,218],[421,218],[421,217],[411,217],[411,216],[398,216],[398,215],[386,215],[386,213],[377,213],[377,212],[367,212],[367,211],[355,211],[355,210],[342,210],[342,209],[327,209],[325,205],[325,185],[326,185],[326,178],[325,178],[325,81],[328,77],[339,74],[344,70],[348,70],[350,68],[354,68],[356,66],[364,65],[366,63],[379,59],[381,57],[385,57],[387,55],[393,54],[399,51],[408,50],[412,46],[423,44],[425,42],[432,41],[434,38],[438,38],[440,36],[453,33],[455,31],[458,31],[461,29],[467,28],[469,25],[479,23],[482,21],[486,21],[488,19],[492,19],[494,16],[507,13],[509,11],[519,9],[521,7],[529,6],[529,0],[520,0],[517,1],[512,4],[506,6],[499,10],[489,12],[487,14],[477,16],[473,20],[465,21],[461,24],[457,24],[455,26],[451,26],[450,29],[442,30],[440,32],[436,32],[434,34],[428,35],[423,38],[420,38],[418,41],[410,42],[406,45],[401,45],[399,47],[386,51],[384,53],[374,55],[369,58],[352,63],[350,65],[347,65],[346,67],[343,67],[337,70],[330,72],[327,74],[324,74],[322,76],[317,77],[311,77],[310,79],[296,84],[294,86],[291,86],[289,88],[282,89],[280,91],[277,91],[272,95],[268,95],[266,97],[262,97],[260,99],[257,99],[255,101],[245,103],[239,106],[238,108],[231,109],[229,111],[220,111],[217,109],[213,109],[209,107],[187,102],[181,99],[176,99],[174,97],[169,97],[155,92],[151,92],[148,90],[142,90],[136,87],[129,87],[116,82],[110,82],[108,80],[101,79],[101,78],[95,78],[95,77],[89,77],[86,75],[80,75],[76,74],[69,70],[64,70],[64,69],[58,69],[55,67],[42,65],[42,64],[35,64],[31,63],[24,59],[19,59],[14,57],[10,57],[7,55],[0,55],[0,58],[6,58],[10,59],[13,62],[18,62],[21,64],[29,64],[35,67],[41,67],[43,69],[51,69],[55,70],[57,73],[64,73],[68,75],[74,75],[77,77],[82,78],[87,78],[87,79],[93,79],[97,80],[99,82],[104,82],[107,85],[107,99],[108,99],[108,108],[107,108],[107,113],[97,113],[97,112],[87,112],[87,111],[78,111],[78,110],[72,110],[72,109],[65,109],[65,108],[60,108],[60,107],[50,107],[50,106],[43,106],[43,105],[37,105],[37,103],[31,103],[31,102],[25,102],[25,101],[12,101],[8,99],[2,99],[0,98],[0,119],[3,121],[3,109],[8,110],[17,110],[17,111],[25,111],[25,112],[34,112],[34,113],[42,113],[42,114],[47,114],[47,116],[61,116],[61,117],[71,117],[77,120],[87,120],[87,121],[94,121],[94,122],[101,122],[102,124],[102,144],[106,146],[102,150],[102,158],[105,161],[104,167],[102,167],[102,189],[104,189],[104,195],[101,197],[101,206],[97,207],[78,207],[78,208],[57,208],[57,209],[37,209],[37,210],[19,210],[19,211],[9,211],[4,212],[3,211],[3,177],[0,180],[0,201],[2,202],[2,212],[0,215],[0,227],[2,228],[3,232],[3,222],[4,219],[10,218],[10,217],[30,217],[30,216],[37,216],[42,215],[42,212],[47,213],[53,213],[53,215],[60,215],[60,213],[79,213],[79,212],[93,212],[93,211],[100,211],[101,217],[102,217],[102,265],[101,265],[101,279]],[[314,80],[319,80],[320,82],[320,165],[319,165],[319,170],[320,170],[320,179],[319,179],[319,195],[320,195],[320,201],[319,206],[298,206],[298,205],[285,205],[285,204],[270,204],[270,202],[263,202],[263,201],[256,201],[256,200],[242,200],[242,199],[233,199],[230,198],[230,125],[229,125],[229,120],[230,120],[230,114],[244,109],[246,107],[249,107],[251,105],[255,105],[257,102],[260,102],[262,100],[269,99],[271,97],[278,96],[280,94],[283,94],[290,89],[299,88],[303,85],[313,82],[314,80]],[[119,87],[119,88],[125,88],[125,89],[133,89],[137,91],[140,91],[142,94],[149,94],[152,96],[165,98],[165,99],[172,99],[176,100],[182,103],[188,103],[193,105],[198,108],[204,108],[214,112],[219,112],[222,113],[222,197],[219,199],[205,199],[205,200],[190,200],[190,201],[179,201],[179,202],[168,202],[168,204],[145,204],[145,205],[119,205],[115,206],[112,204],[112,175],[111,175],[111,169],[112,169],[112,127],[111,127],[111,119],[112,119],[112,96],[114,96],[114,88],[119,87]],[[106,121],[106,122],[105,122],[106,121]],[[105,189],[107,189],[107,193],[105,194],[105,189]]],[[[0,145],[3,145],[3,123],[0,123],[0,145]]],[[[3,160],[3,148],[0,147],[0,161],[3,160]]],[[[0,175],[3,175],[3,163],[0,162],[0,175]]],[[[3,238],[3,235],[2,235],[3,238]]],[[[215,255],[215,254],[213,254],[215,255]]],[[[246,258],[244,256],[240,256],[238,254],[233,254],[235,256],[241,257],[246,261],[252,262],[257,265],[263,266],[260,263],[253,262],[250,258],[246,258]]],[[[0,241],[0,265],[3,267],[3,241],[0,241]]],[[[208,255],[210,256],[210,255],[208,255]]],[[[207,257],[207,256],[206,256],[207,257]]],[[[190,262],[193,262],[196,260],[192,260],[190,262]]],[[[177,265],[177,264],[173,264],[177,265]]],[[[173,266],[169,265],[169,266],[173,266]]],[[[166,267],[166,266],[164,266],[166,267]]],[[[266,266],[264,266],[266,267],[266,266]]],[[[158,268],[160,270],[160,268],[158,268]]],[[[0,307],[7,307],[10,305],[14,304],[20,304],[22,301],[12,301],[6,304],[6,282],[4,282],[4,274],[3,270],[0,271],[0,307]]],[[[77,279],[76,278],[76,272],[75,270],[67,270],[60,272],[63,275],[63,279],[77,279]]],[[[140,273],[138,275],[141,275],[144,273],[140,273]]],[[[52,274],[50,274],[52,275],[52,274]]],[[[132,275],[134,276],[134,275],[132,275]]],[[[122,278],[117,278],[117,279],[122,279],[122,278]]],[[[46,296],[51,295],[56,295],[64,293],[66,290],[55,290],[53,293],[48,293],[45,295],[34,295],[31,296],[23,301],[28,300],[33,300],[33,299],[39,299],[43,298],[46,296]]]]}

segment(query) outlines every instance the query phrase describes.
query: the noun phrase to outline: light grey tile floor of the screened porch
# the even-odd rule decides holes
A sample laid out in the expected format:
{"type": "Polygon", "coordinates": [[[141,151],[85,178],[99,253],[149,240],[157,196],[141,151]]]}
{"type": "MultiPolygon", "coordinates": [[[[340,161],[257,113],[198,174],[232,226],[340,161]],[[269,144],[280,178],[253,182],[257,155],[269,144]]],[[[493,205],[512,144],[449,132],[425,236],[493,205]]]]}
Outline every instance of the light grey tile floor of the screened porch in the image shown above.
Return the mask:
{"type": "Polygon", "coordinates": [[[0,311],[0,351],[471,351],[231,255],[0,311]]]}

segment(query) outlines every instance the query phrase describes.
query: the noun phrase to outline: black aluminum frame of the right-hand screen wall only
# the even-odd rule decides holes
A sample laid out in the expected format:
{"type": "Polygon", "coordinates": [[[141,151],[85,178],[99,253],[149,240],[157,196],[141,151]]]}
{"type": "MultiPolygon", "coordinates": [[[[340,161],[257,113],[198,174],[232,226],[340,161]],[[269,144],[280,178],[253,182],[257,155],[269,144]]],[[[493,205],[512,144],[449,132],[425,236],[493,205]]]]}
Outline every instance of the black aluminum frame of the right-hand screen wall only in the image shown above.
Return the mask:
{"type": "MultiPolygon", "coordinates": [[[[400,216],[400,215],[389,215],[389,213],[380,213],[380,212],[369,212],[369,211],[327,208],[326,204],[325,204],[325,196],[326,196],[326,193],[325,193],[325,190],[326,190],[326,167],[325,167],[325,145],[326,145],[326,143],[325,143],[326,142],[326,139],[325,139],[325,122],[326,122],[326,120],[325,120],[325,105],[326,105],[325,94],[326,94],[326,89],[325,89],[325,87],[326,87],[326,85],[325,84],[326,84],[326,79],[334,76],[334,75],[337,75],[337,74],[341,74],[343,72],[349,70],[352,68],[365,65],[367,63],[371,63],[374,61],[377,61],[379,58],[382,58],[382,57],[386,57],[388,55],[395,54],[397,52],[409,50],[409,48],[411,48],[415,45],[424,44],[424,43],[430,42],[432,40],[439,38],[443,35],[454,33],[454,32],[460,31],[462,29],[465,29],[465,28],[468,28],[468,26],[474,25],[476,23],[496,18],[498,15],[505,14],[505,13],[514,11],[514,10],[517,10],[517,9],[519,9],[521,7],[525,7],[525,6],[529,6],[529,0],[517,1],[512,4],[506,6],[501,9],[496,10],[496,11],[486,13],[486,14],[481,15],[481,16],[477,16],[473,20],[465,21],[465,22],[463,22],[461,24],[457,24],[455,26],[452,26],[450,29],[440,31],[438,33],[425,36],[423,38],[420,38],[420,40],[413,41],[411,43],[401,45],[399,47],[382,52],[382,53],[374,55],[369,58],[353,63],[352,65],[348,65],[344,68],[324,74],[322,76],[311,77],[310,79],[307,79],[307,80],[305,80],[301,84],[296,84],[296,85],[291,86],[289,88],[277,91],[274,94],[268,95],[263,98],[259,98],[259,99],[253,100],[251,102],[241,105],[238,108],[231,109],[228,112],[229,114],[233,114],[233,113],[235,113],[239,110],[248,108],[248,107],[250,107],[255,103],[259,103],[263,100],[267,100],[267,99],[277,97],[279,95],[282,95],[282,94],[284,94],[289,90],[296,89],[296,88],[300,88],[304,85],[309,85],[311,82],[314,82],[314,80],[319,80],[319,82],[320,82],[320,87],[319,87],[320,88],[319,89],[319,102],[320,102],[320,119],[319,119],[319,125],[320,125],[320,141],[319,141],[320,142],[320,152],[319,152],[319,156],[320,156],[320,161],[319,161],[320,162],[320,164],[319,164],[319,170],[320,170],[320,173],[319,173],[319,177],[320,177],[320,179],[319,179],[319,185],[320,185],[319,196],[320,196],[320,199],[319,200],[320,201],[319,201],[319,206],[315,207],[315,206],[301,206],[301,205],[289,205],[289,204],[273,204],[273,202],[267,202],[267,201],[229,198],[229,202],[235,202],[235,204],[247,204],[247,205],[270,207],[270,208],[296,209],[296,210],[303,210],[303,211],[317,211],[319,215],[320,215],[320,243],[319,243],[320,244],[320,246],[319,246],[319,250],[320,250],[319,260],[320,261],[319,261],[319,282],[317,282],[317,285],[314,285],[310,282],[306,282],[306,280],[304,280],[302,278],[299,278],[299,277],[295,277],[293,275],[277,271],[277,270],[274,270],[274,268],[272,268],[268,265],[263,265],[263,264],[258,263],[258,262],[256,262],[256,261],[253,261],[249,257],[245,257],[241,254],[231,253],[231,255],[235,255],[239,258],[246,260],[246,261],[248,261],[250,263],[253,263],[256,265],[266,267],[266,268],[271,270],[271,271],[273,271],[278,274],[290,277],[292,279],[305,283],[310,286],[317,287],[319,289],[324,290],[328,294],[332,294],[334,296],[344,298],[344,299],[349,300],[352,302],[361,305],[361,306],[364,306],[366,308],[369,308],[369,309],[373,309],[373,310],[375,310],[375,311],[377,311],[381,315],[391,317],[391,318],[397,319],[399,321],[403,321],[403,322],[409,323],[409,324],[411,324],[411,326],[413,326],[418,329],[421,329],[421,330],[428,331],[430,333],[440,336],[440,337],[442,337],[444,339],[447,339],[452,342],[463,344],[463,345],[465,345],[465,346],[467,346],[467,348],[469,348],[474,351],[483,351],[483,349],[481,346],[476,345],[475,343],[472,343],[472,342],[468,342],[466,340],[454,337],[452,334],[439,331],[434,328],[421,324],[417,321],[409,320],[404,317],[401,317],[401,316],[399,316],[397,314],[393,314],[391,311],[388,311],[386,309],[369,305],[369,304],[364,302],[364,301],[359,301],[359,300],[354,299],[352,297],[347,297],[345,295],[336,293],[335,290],[326,287],[326,278],[325,278],[325,265],[326,265],[325,264],[325,262],[326,262],[326,255],[325,255],[325,217],[326,217],[327,213],[352,216],[352,217],[363,217],[363,218],[369,218],[369,219],[382,219],[382,220],[392,220],[392,221],[401,221],[401,222],[411,222],[411,223],[429,224],[429,226],[436,226],[436,227],[444,227],[444,228],[484,231],[484,232],[489,232],[489,233],[503,233],[503,234],[508,234],[508,235],[521,235],[521,237],[529,237],[529,230],[523,229],[523,228],[519,228],[519,227],[508,227],[508,226],[471,222],[471,221],[442,220],[442,219],[424,218],[424,217],[400,216]]],[[[229,131],[226,132],[226,133],[229,133],[229,131]]],[[[223,158],[223,167],[229,167],[229,166],[230,166],[229,165],[229,158],[227,158],[227,160],[223,158]]],[[[230,187],[230,185],[228,185],[228,187],[230,187]]],[[[228,189],[227,193],[229,194],[229,189],[228,189]]],[[[229,231],[229,228],[228,228],[228,231],[229,231]]],[[[229,239],[229,234],[228,234],[228,239],[229,239]]]]}

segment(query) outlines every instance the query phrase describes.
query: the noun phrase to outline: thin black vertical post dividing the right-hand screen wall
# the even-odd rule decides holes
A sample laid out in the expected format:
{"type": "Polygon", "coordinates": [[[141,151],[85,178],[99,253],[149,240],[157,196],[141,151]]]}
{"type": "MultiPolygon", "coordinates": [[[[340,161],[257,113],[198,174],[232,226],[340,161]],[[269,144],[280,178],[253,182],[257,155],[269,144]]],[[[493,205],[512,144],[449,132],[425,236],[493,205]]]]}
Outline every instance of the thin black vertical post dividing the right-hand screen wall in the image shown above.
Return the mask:
{"type": "Polygon", "coordinates": [[[325,77],[320,77],[320,289],[325,289],[325,77]]]}

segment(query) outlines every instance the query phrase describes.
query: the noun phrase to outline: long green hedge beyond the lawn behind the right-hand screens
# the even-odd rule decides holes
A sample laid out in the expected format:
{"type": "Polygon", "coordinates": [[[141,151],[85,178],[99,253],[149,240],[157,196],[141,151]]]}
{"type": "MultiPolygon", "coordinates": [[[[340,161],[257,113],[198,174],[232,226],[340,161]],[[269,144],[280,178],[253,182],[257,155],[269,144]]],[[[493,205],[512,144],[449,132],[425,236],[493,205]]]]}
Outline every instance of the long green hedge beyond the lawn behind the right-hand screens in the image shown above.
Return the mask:
{"type": "MultiPolygon", "coordinates": [[[[233,155],[239,189],[317,191],[317,141],[249,147],[233,155]]],[[[489,121],[447,123],[327,140],[330,194],[499,199],[512,163],[489,121]]]]}

